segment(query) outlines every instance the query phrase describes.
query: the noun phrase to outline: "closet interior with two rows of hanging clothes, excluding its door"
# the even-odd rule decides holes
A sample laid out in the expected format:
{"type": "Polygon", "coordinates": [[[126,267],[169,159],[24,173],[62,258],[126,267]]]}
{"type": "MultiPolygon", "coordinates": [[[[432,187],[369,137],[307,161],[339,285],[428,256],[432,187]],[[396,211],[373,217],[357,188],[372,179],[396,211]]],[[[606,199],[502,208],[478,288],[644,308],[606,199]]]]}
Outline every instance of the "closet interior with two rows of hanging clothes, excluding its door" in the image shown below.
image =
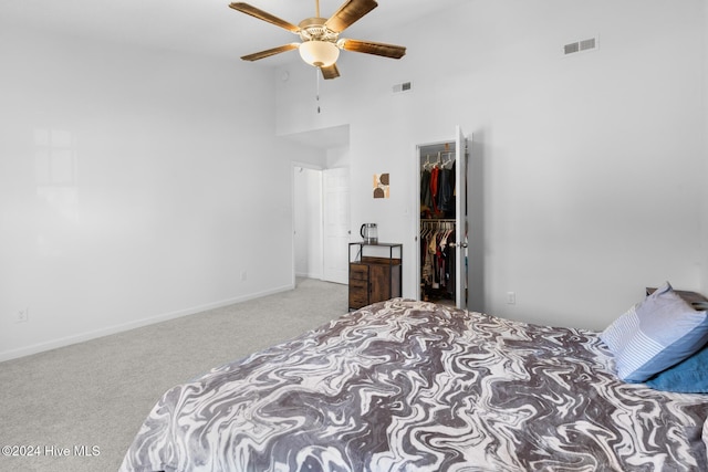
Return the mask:
{"type": "Polygon", "coordinates": [[[421,146],[419,159],[420,300],[455,305],[455,143],[421,146]]]}

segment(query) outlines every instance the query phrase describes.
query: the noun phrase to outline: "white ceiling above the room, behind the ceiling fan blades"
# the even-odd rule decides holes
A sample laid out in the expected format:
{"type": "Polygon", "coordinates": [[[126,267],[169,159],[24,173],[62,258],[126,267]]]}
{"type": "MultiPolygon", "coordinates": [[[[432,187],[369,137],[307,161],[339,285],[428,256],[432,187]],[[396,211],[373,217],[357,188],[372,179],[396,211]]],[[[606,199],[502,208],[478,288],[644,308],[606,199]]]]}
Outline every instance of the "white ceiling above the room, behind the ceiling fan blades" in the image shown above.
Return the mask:
{"type": "MultiPolygon", "coordinates": [[[[320,0],[329,18],[345,0],[320,0]]],[[[396,44],[399,28],[465,0],[379,0],[378,7],[342,35],[396,44]]],[[[293,24],[314,17],[315,0],[249,0],[293,24]]],[[[292,33],[228,8],[229,0],[0,0],[0,23],[100,38],[148,48],[233,57],[296,41],[292,33]]],[[[405,44],[403,44],[405,45],[405,44]]],[[[299,59],[283,53],[260,66],[299,59]]]]}

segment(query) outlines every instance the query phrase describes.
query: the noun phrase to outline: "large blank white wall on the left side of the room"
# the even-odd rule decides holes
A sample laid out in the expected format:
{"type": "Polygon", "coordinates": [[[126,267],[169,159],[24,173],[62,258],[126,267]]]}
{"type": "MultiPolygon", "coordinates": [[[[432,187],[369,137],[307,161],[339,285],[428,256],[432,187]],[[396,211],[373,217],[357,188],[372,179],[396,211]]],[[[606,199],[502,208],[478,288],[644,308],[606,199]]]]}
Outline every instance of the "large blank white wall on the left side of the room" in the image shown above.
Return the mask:
{"type": "Polygon", "coordinates": [[[20,28],[0,63],[0,360],[292,286],[271,73],[20,28]]]}

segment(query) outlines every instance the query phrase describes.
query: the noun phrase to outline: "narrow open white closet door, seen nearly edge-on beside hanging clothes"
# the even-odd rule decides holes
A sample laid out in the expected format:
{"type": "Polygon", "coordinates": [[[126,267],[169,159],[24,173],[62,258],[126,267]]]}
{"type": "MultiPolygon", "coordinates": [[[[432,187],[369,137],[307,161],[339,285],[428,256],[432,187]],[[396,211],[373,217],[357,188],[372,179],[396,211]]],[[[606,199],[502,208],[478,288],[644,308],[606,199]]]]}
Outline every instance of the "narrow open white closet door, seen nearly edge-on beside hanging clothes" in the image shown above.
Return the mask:
{"type": "Polygon", "coordinates": [[[467,139],[459,126],[455,129],[455,224],[456,298],[458,308],[467,308],[467,139]]]}

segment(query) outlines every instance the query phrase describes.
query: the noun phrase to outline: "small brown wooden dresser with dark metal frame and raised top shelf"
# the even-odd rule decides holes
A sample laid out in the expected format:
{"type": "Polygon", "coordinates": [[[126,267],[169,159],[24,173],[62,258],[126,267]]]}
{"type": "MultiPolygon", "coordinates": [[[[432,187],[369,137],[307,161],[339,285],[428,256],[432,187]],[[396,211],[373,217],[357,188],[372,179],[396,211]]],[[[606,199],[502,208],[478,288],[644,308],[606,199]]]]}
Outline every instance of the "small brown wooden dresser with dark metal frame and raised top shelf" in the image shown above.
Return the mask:
{"type": "Polygon", "coordinates": [[[402,294],[403,244],[350,243],[350,310],[402,294]]]}

